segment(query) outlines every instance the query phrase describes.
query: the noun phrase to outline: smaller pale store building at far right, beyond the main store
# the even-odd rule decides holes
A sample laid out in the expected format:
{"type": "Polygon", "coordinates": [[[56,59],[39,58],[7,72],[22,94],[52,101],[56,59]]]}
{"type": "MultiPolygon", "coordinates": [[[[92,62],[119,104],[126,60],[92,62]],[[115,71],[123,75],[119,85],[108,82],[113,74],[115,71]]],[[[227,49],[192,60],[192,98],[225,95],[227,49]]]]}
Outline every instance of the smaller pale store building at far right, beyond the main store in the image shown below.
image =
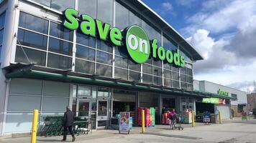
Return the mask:
{"type": "Polygon", "coordinates": [[[241,116],[242,111],[247,112],[246,92],[208,81],[194,80],[193,86],[195,91],[222,95],[222,98],[211,101],[196,100],[196,112],[214,113],[215,110],[219,110],[224,119],[229,119],[232,116],[232,110],[234,116],[241,116]],[[227,100],[225,97],[232,97],[232,100],[227,100]]]}

